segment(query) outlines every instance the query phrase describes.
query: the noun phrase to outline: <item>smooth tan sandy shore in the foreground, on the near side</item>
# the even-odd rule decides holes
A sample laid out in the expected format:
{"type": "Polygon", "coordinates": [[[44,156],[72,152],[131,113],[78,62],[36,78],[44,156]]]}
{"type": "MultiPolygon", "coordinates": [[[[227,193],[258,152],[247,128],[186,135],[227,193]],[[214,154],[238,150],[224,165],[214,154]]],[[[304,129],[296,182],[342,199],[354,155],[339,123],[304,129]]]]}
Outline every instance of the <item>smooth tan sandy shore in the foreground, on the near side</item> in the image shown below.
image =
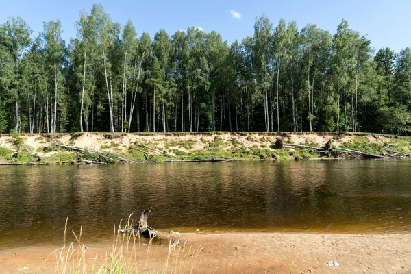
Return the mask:
{"type": "MultiPolygon", "coordinates": [[[[408,273],[411,270],[411,234],[285,234],[285,233],[223,233],[175,234],[167,238],[186,244],[185,262],[189,273],[408,273]],[[191,251],[188,252],[191,247],[191,251]],[[201,256],[195,256],[197,249],[201,256]],[[190,257],[194,255],[194,257],[190,257]],[[336,260],[339,267],[327,263],[336,260]]],[[[86,243],[86,271],[92,264],[99,267],[107,258],[111,243],[86,243]],[[97,260],[96,260],[97,258],[97,260]]],[[[147,260],[147,245],[141,244],[142,269],[164,270],[168,241],[153,245],[147,260]]],[[[40,245],[0,250],[1,273],[55,273],[55,250],[61,246],[40,245]],[[47,258],[45,260],[45,258],[47,258]],[[28,269],[23,269],[26,266],[28,269]]],[[[75,245],[77,249],[77,245],[75,245]]],[[[57,251],[58,252],[58,251],[57,251]]],[[[75,251],[76,253],[76,251],[75,251]]],[[[175,262],[172,253],[168,272],[175,262]]],[[[183,253],[180,253],[183,254],[183,253]]],[[[73,256],[75,257],[75,256],[73,256]]],[[[75,257],[76,258],[76,257],[75,257]]],[[[139,262],[137,258],[136,262],[139,262]]],[[[69,264],[71,267],[71,264],[69,264]]],[[[70,272],[71,273],[71,272],[70,272]]],[[[156,272],[157,273],[157,272],[156,272]]],[[[182,272],[177,272],[182,273],[182,272]]]]}

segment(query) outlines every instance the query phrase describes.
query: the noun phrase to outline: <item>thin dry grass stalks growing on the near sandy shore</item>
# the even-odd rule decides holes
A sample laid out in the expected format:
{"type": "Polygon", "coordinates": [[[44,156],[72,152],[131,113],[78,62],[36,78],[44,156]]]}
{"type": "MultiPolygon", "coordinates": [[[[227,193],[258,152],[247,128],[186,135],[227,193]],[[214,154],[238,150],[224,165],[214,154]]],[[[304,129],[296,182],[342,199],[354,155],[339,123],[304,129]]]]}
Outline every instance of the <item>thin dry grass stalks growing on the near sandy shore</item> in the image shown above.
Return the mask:
{"type": "MultiPolygon", "coordinates": [[[[130,214],[127,224],[123,228],[127,231],[132,227],[132,214],[130,214]]],[[[80,273],[197,273],[201,262],[202,247],[188,247],[187,241],[180,238],[169,240],[169,247],[166,253],[159,251],[153,253],[153,245],[161,245],[164,238],[151,238],[143,240],[134,233],[125,234],[121,232],[121,221],[118,226],[114,225],[113,238],[108,249],[102,253],[92,254],[82,242],[82,229],[75,236],[76,243],[67,242],[67,223],[64,225],[63,246],[53,251],[55,253],[55,273],[56,274],[80,274],[80,273]],[[92,257],[89,257],[92,256],[92,257]]],[[[166,247],[162,247],[166,248],[166,247]]],[[[49,260],[48,256],[46,260],[49,260]]]]}

